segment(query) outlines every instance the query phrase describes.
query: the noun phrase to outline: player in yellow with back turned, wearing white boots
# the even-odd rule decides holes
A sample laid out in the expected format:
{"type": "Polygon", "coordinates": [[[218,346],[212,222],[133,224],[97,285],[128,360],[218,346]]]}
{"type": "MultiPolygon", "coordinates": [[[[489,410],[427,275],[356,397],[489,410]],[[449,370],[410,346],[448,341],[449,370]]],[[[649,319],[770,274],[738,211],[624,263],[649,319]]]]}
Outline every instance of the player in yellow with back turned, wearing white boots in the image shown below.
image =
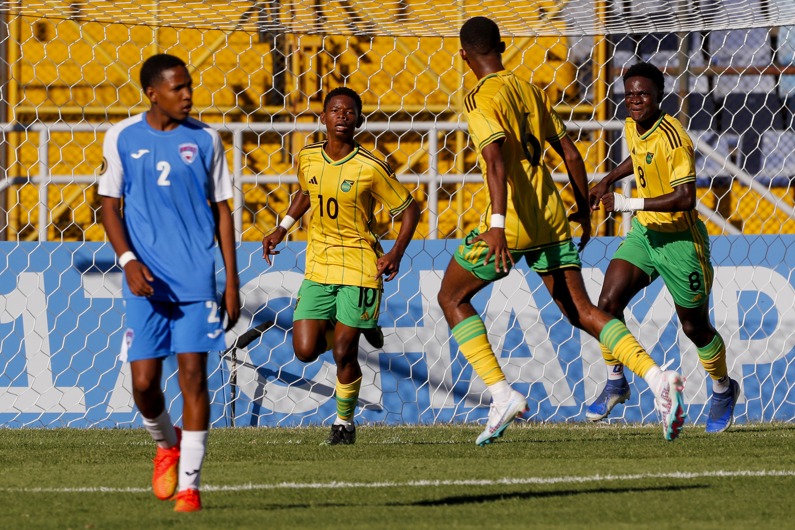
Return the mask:
{"type": "Polygon", "coordinates": [[[619,319],[588,300],[568,224],[572,220],[582,226],[582,249],[591,234],[588,184],[583,159],[564,123],[543,91],[502,65],[505,43],[493,21],[471,18],[460,37],[461,56],[479,79],[464,104],[490,203],[478,230],[467,236],[450,261],[439,304],[461,352],[491,392],[486,428],[475,443],[491,443],[527,409],[525,397],[506,381],[483,320],[471,304],[476,292],[506,277],[522,257],[541,275],[572,324],[599,338],[649,382],[663,412],[665,438],[676,438],[685,417],[681,376],[663,372],[619,319]],[[577,212],[568,219],[543,160],[544,142],[563,158],[572,182],[577,212]]]}

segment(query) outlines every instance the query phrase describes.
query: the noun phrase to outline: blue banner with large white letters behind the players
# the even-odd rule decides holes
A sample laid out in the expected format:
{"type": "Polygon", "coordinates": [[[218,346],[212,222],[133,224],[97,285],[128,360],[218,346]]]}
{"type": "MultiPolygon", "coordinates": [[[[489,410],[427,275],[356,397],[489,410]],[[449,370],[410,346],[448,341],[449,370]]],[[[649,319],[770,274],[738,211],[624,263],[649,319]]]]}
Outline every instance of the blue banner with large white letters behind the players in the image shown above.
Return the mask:
{"type": "MultiPolygon", "coordinates": [[[[620,238],[595,238],[583,254],[591,300],[599,296],[620,238]]],[[[388,248],[391,242],[384,242],[388,248]]],[[[409,245],[401,273],[385,284],[380,323],[385,345],[364,339],[357,420],[389,424],[474,421],[490,397],[452,339],[436,302],[458,242],[409,245]]],[[[320,424],[335,415],[331,353],[304,364],[293,357],[295,296],[304,277],[305,243],[282,246],[273,266],[258,243],[238,249],[242,317],[227,346],[251,327],[273,321],[250,346],[211,352],[212,423],[230,425],[235,371],[236,425],[320,424]]],[[[731,377],[741,381],[743,420],[795,417],[795,236],[712,238],[715,284],[711,315],[727,344],[731,377]]],[[[220,264],[220,261],[219,261],[220,264]]],[[[139,425],[129,364],[122,362],[122,273],[104,243],[0,242],[0,424],[6,427],[139,425]]],[[[223,269],[219,269],[223,285],[223,269]]],[[[529,397],[531,420],[584,420],[606,378],[599,344],[568,323],[524,261],[474,300],[506,377],[529,397]]],[[[660,365],[688,378],[690,420],[703,422],[711,384],[684,336],[662,280],[632,301],[627,326],[660,365]]],[[[181,413],[176,362],[165,359],[164,385],[181,413]]],[[[632,397],[611,418],[656,421],[653,396],[630,377],[632,397]]]]}

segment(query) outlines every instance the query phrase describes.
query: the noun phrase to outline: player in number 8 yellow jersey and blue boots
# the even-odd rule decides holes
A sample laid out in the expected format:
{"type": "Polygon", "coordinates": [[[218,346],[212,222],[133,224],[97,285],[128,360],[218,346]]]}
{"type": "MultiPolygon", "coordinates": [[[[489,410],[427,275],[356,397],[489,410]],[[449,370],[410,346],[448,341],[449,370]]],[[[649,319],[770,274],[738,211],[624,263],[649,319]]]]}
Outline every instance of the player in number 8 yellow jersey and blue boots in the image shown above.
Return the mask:
{"type": "MultiPolygon", "coordinates": [[[[712,263],[707,227],[696,212],[696,162],[692,141],[677,118],[660,109],[665,77],[649,63],[631,66],[623,76],[626,143],[630,156],[590,192],[591,210],[637,211],[626,240],[616,250],[605,274],[599,307],[623,319],[638,292],[662,277],[673,296],[684,335],[696,345],[712,377],[707,432],[731,426],[739,384],[726,369],[726,346],[709,321],[712,263]],[[634,174],[638,198],[607,191],[634,174]]],[[[630,397],[620,359],[605,348],[607,385],[590,407],[588,420],[606,418],[630,397]]]]}

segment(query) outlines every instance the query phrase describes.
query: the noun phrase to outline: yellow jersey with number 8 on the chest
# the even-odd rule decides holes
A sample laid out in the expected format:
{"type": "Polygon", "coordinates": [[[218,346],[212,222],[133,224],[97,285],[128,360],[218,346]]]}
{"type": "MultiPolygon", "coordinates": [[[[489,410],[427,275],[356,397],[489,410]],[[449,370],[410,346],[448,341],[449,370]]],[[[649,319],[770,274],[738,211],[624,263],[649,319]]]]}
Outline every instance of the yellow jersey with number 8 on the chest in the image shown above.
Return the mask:
{"type": "MultiPolygon", "coordinates": [[[[626,145],[630,149],[638,197],[649,199],[671,193],[675,186],[696,180],[696,157],[693,144],[682,124],[663,112],[645,134],[638,134],[632,118],[626,118],[626,145]]],[[[657,232],[688,230],[696,219],[695,208],[664,213],[638,211],[638,221],[657,232]]]]}

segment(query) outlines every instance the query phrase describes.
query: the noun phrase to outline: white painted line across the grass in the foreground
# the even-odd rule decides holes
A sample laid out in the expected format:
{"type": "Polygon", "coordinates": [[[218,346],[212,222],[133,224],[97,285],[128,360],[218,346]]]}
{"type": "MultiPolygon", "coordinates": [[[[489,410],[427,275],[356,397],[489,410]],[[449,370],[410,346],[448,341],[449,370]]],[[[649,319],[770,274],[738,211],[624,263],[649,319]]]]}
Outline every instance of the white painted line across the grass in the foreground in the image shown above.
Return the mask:
{"type": "MultiPolygon", "coordinates": [[[[587,477],[530,477],[498,478],[497,480],[417,480],[409,482],[281,482],[279,484],[240,484],[238,486],[202,486],[202,491],[248,491],[251,489],[337,489],[337,488],[399,488],[421,486],[503,486],[514,484],[561,484],[642,480],[645,478],[702,478],[702,477],[795,477],[795,470],[740,471],[677,471],[675,473],[639,473],[626,475],[589,475],[587,477]]],[[[6,493],[148,493],[151,488],[2,488],[6,493]]]]}

